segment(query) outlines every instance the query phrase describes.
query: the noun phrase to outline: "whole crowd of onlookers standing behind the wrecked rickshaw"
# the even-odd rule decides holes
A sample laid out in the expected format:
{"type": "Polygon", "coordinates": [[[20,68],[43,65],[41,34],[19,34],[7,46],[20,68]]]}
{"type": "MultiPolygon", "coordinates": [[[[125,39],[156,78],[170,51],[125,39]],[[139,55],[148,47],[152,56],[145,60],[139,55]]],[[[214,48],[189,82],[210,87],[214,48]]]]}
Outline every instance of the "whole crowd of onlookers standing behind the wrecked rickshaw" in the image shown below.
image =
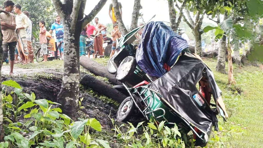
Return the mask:
{"type": "MultiPolygon", "coordinates": [[[[14,4],[11,0],[5,0],[3,5],[3,8],[0,7],[2,10],[0,13],[0,21],[3,34],[3,60],[1,64],[3,64],[3,62],[9,63],[10,75],[12,75],[14,63],[28,64],[34,62],[34,48],[32,46],[33,22],[30,20],[30,13],[28,11],[22,11],[19,4],[14,4]]],[[[122,5],[120,3],[119,9],[122,13],[122,5]]],[[[112,4],[110,4],[109,7],[109,16],[114,28],[113,31],[110,32],[113,40],[112,52],[110,53],[110,56],[112,56],[116,50],[116,39],[121,37],[121,32],[117,25],[117,19],[114,15],[114,7],[112,4]]],[[[80,33],[79,56],[88,54],[88,57],[90,57],[90,54],[92,54],[93,58],[103,57],[103,37],[107,36],[107,27],[102,23],[99,23],[98,17],[94,18],[94,22],[94,26],[89,22],[80,33]],[[87,48],[88,51],[86,51],[87,38],[90,38],[90,41],[94,44],[94,48],[87,48]]],[[[60,56],[60,59],[63,59],[64,30],[63,24],[60,22],[60,17],[55,17],[55,22],[51,25],[50,31],[47,31],[45,28],[44,20],[39,20],[38,26],[39,42],[44,59],[43,62],[46,62],[48,58],[49,51],[47,43],[52,38],[52,33],[55,41],[55,59],[58,59],[58,55],[60,56]]]]}

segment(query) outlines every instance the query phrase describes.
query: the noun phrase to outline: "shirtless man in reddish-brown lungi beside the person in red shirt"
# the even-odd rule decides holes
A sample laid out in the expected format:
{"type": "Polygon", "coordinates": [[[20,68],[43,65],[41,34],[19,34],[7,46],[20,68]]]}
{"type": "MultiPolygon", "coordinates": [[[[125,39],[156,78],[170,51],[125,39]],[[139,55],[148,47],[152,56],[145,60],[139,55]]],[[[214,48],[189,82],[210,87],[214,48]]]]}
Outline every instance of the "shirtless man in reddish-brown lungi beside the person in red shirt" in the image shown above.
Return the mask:
{"type": "Polygon", "coordinates": [[[96,26],[95,28],[97,29],[96,33],[95,33],[95,40],[94,40],[94,50],[95,53],[99,54],[100,58],[103,57],[103,36],[102,34],[97,35],[97,33],[100,33],[102,30],[106,29],[107,27],[104,26],[103,24],[99,23],[99,18],[95,17],[95,23],[96,26]]]}

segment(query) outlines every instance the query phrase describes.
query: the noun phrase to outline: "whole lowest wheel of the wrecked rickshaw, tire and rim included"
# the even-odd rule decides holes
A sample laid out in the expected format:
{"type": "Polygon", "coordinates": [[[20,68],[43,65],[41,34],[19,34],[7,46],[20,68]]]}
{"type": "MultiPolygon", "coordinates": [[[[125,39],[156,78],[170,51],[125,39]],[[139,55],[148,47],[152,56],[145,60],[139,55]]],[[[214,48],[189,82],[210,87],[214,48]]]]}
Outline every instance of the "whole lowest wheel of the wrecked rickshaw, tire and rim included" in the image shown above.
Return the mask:
{"type": "Polygon", "coordinates": [[[127,121],[135,110],[135,104],[131,97],[127,97],[120,104],[117,112],[118,121],[127,121]]]}

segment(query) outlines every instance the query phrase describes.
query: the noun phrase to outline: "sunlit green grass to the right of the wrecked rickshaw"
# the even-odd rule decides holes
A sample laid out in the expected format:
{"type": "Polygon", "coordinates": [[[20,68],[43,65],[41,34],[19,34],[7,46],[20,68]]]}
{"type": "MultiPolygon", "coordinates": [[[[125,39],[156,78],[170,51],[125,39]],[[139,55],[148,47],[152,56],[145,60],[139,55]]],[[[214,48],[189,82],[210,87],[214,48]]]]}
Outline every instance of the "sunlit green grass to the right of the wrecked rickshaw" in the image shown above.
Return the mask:
{"type": "Polygon", "coordinates": [[[219,117],[220,131],[211,136],[208,147],[262,147],[263,71],[254,66],[239,68],[234,65],[236,84],[243,90],[238,94],[227,86],[227,75],[215,71],[216,60],[206,59],[204,62],[214,72],[230,116],[227,122],[219,117]]]}

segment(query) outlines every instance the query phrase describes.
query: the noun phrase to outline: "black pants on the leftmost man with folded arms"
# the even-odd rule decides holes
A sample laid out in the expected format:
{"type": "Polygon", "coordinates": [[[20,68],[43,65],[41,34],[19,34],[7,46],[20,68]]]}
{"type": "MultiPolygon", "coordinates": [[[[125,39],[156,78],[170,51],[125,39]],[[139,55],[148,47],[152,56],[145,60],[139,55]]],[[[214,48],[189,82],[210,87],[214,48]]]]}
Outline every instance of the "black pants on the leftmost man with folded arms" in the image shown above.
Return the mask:
{"type": "Polygon", "coordinates": [[[11,42],[11,43],[5,43],[3,42],[3,60],[6,60],[8,57],[8,51],[9,51],[9,58],[10,61],[14,61],[15,59],[15,48],[16,48],[17,42],[11,42]]]}

